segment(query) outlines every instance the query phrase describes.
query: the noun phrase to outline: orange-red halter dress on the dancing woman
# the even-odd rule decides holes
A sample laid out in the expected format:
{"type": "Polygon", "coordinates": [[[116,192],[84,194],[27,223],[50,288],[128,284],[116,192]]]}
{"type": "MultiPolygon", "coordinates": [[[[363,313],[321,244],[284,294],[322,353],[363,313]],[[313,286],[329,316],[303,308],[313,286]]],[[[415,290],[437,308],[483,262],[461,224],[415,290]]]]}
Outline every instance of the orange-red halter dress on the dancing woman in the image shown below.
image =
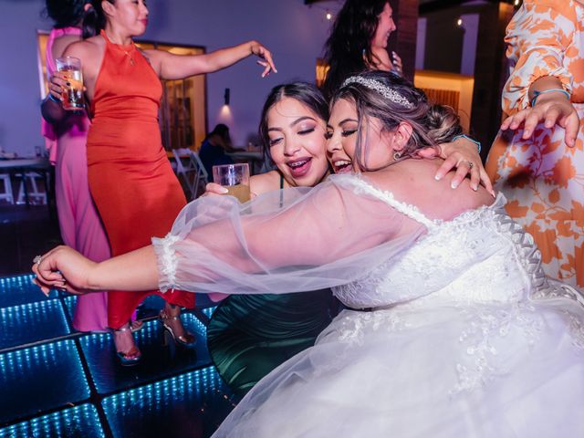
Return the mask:
{"type": "MultiPolygon", "coordinates": [[[[103,31],[101,36],[106,49],[91,104],[89,190],[108,234],[111,254],[121,255],[150,245],[153,236],[166,235],[186,199],[162,148],[160,79],[133,44],[113,44],[103,31]]],[[[110,328],[127,323],[151,294],[185,308],[194,306],[194,294],[184,291],[110,291],[110,328]]]]}

